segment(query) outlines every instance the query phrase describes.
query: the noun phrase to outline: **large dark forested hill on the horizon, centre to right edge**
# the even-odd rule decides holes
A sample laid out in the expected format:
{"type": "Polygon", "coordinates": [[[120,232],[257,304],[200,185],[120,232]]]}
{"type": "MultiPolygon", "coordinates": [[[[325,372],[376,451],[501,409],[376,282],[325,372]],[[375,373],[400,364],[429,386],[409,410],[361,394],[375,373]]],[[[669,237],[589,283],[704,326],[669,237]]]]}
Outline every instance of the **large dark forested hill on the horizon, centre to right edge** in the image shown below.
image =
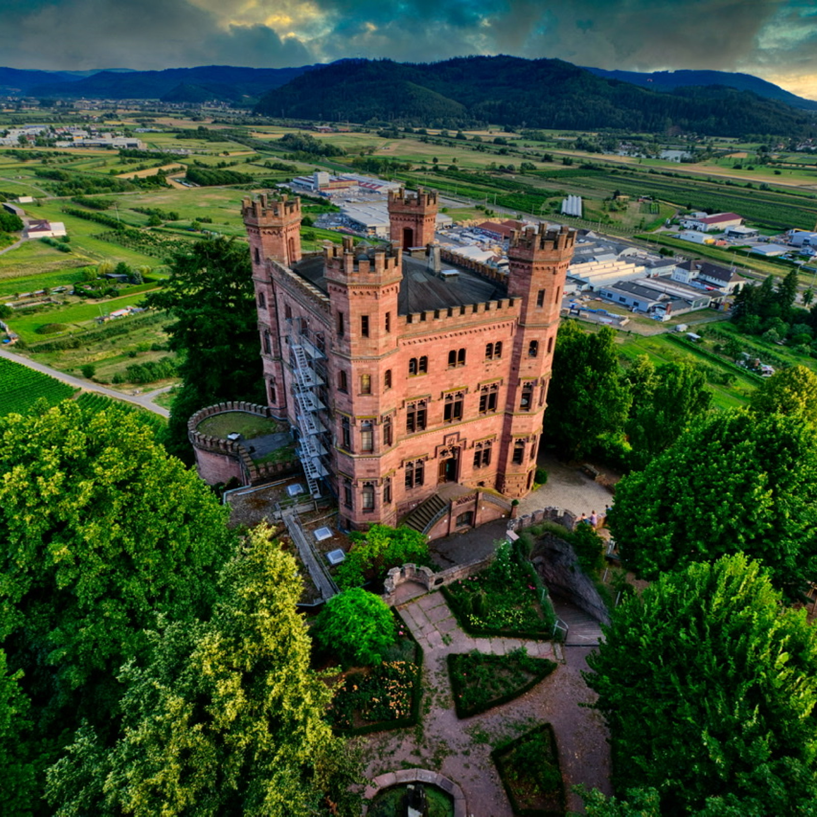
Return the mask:
{"type": "Polygon", "coordinates": [[[597,76],[561,60],[461,57],[434,64],[344,60],[275,88],[260,114],[438,127],[699,132],[711,136],[817,134],[817,118],[730,87],[669,92],[597,76]]]}

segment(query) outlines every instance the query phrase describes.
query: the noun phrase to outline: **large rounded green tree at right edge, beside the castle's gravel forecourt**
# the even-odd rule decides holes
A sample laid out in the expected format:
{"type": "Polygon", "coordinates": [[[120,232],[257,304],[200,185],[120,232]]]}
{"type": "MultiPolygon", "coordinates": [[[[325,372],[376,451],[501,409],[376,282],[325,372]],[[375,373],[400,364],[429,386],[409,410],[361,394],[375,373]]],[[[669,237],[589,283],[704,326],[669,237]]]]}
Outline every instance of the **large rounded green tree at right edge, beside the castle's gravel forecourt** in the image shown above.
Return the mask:
{"type": "Polygon", "coordinates": [[[817,440],[800,417],[745,410],[694,424],[624,477],[608,525],[643,578],[735,551],[797,597],[817,576],[817,440]]]}

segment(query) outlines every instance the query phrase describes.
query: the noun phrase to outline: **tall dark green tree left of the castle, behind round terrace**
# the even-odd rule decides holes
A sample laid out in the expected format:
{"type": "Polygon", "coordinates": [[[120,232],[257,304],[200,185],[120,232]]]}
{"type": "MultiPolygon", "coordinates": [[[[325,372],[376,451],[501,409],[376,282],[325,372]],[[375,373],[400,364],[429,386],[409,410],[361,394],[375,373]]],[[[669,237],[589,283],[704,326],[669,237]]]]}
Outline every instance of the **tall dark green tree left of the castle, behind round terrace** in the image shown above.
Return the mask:
{"type": "Polygon", "coordinates": [[[264,400],[258,316],[246,244],[204,239],[176,251],[169,267],[167,282],[146,303],[175,318],[167,332],[182,383],[163,442],[190,461],[187,421],[199,408],[264,400]]]}

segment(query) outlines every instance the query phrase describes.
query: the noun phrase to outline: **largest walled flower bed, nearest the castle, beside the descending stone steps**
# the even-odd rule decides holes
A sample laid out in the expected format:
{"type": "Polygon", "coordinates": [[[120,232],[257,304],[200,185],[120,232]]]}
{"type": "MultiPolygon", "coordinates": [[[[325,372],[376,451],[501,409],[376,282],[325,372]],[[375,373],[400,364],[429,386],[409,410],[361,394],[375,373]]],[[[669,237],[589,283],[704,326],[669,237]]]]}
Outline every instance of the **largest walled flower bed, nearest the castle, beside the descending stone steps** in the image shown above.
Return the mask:
{"type": "Polygon", "coordinates": [[[498,548],[489,568],[442,590],[460,627],[472,635],[553,637],[556,617],[547,589],[510,544],[498,548]]]}

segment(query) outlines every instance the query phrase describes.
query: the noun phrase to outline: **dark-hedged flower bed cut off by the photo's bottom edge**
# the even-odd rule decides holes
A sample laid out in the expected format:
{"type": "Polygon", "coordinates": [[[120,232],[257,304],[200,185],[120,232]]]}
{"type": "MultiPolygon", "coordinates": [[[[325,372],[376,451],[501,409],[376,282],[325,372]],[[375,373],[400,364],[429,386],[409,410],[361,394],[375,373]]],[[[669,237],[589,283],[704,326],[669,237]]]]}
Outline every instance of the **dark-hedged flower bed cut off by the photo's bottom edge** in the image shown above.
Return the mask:
{"type": "Polygon", "coordinates": [[[565,784],[553,727],[542,724],[491,752],[519,817],[564,817],[565,784]]]}

